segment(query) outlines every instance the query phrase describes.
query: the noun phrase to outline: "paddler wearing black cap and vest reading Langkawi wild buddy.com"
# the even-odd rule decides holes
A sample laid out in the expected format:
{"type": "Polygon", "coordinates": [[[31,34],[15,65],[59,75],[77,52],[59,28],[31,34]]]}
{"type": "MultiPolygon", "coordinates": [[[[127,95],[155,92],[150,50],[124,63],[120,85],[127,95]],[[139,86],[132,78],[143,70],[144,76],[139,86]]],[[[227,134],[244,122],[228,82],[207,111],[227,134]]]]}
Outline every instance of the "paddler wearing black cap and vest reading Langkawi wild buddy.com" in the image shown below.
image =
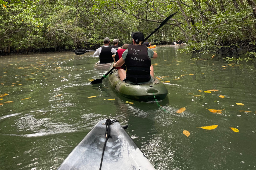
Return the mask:
{"type": "Polygon", "coordinates": [[[157,53],[145,45],[142,45],[144,41],[144,35],[141,32],[132,33],[133,44],[128,45],[128,48],[122,54],[114,67],[120,67],[126,64],[126,72],[123,69],[119,69],[119,77],[124,82],[132,82],[135,84],[142,84],[145,82],[153,81],[154,68],[151,65],[150,58],[157,58],[157,53]]]}

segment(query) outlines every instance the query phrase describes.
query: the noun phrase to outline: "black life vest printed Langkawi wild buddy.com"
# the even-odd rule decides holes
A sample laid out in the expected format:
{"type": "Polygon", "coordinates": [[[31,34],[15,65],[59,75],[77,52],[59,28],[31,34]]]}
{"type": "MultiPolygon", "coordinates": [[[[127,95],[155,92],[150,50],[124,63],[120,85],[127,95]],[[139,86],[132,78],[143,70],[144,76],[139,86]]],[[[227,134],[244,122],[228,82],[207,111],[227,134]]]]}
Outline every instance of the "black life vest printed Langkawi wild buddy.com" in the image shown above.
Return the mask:
{"type": "Polygon", "coordinates": [[[128,53],[125,58],[126,79],[136,83],[150,80],[151,59],[148,56],[148,48],[145,45],[128,45],[128,53]]]}

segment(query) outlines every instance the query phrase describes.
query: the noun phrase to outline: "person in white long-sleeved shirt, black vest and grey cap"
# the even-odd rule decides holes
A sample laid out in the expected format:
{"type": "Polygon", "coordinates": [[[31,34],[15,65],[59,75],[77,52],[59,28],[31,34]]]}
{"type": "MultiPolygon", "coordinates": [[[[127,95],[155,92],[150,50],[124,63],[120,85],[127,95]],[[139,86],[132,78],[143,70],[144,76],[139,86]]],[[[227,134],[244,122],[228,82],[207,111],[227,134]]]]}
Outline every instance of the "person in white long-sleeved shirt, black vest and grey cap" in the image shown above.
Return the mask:
{"type": "Polygon", "coordinates": [[[116,53],[116,49],[112,48],[112,46],[109,46],[110,39],[106,37],[103,41],[104,45],[96,49],[93,56],[100,55],[100,63],[111,63],[113,62],[112,55],[116,53]]]}

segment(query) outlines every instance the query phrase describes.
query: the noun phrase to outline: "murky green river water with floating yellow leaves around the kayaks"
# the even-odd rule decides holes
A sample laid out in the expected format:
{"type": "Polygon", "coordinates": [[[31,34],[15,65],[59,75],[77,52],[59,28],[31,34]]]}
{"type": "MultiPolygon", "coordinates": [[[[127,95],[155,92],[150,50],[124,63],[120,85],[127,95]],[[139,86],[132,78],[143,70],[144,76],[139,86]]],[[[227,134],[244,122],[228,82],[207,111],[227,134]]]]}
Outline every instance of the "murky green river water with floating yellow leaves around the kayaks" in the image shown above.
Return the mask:
{"type": "Polygon", "coordinates": [[[106,118],[129,124],[126,131],[157,170],[256,169],[256,65],[192,60],[178,48],[154,49],[155,76],[169,90],[161,108],[118,95],[107,78],[91,85],[107,72],[93,68],[99,59],[92,52],[1,56],[0,169],[57,169],[106,118]],[[197,128],[211,125],[218,127],[197,128]]]}

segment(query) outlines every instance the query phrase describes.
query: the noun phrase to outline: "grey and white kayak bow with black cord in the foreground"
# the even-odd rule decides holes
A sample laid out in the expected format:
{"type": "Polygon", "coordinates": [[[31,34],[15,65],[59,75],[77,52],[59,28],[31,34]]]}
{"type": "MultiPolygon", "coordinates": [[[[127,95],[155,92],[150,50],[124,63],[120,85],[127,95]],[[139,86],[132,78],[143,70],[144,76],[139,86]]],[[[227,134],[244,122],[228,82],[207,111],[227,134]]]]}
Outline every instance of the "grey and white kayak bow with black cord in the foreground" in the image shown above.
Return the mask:
{"type": "Polygon", "coordinates": [[[105,119],[98,122],[58,170],[99,170],[108,131],[106,123],[109,138],[104,150],[102,170],[155,170],[119,122],[112,120],[114,123],[109,125],[110,121],[105,119]]]}

